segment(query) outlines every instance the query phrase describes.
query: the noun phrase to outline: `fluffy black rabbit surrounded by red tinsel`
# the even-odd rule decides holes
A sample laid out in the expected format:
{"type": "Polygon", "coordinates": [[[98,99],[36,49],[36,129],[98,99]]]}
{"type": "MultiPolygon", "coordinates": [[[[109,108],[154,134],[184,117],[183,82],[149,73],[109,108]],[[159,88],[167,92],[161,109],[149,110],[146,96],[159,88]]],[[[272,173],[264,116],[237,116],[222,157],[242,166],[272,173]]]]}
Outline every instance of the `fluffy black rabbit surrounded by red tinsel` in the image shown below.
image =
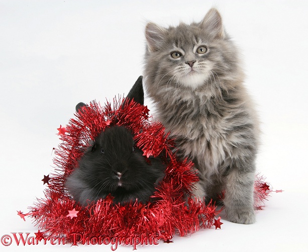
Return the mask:
{"type": "MultiPolygon", "coordinates": [[[[143,105],[142,76],[125,102],[132,98],[143,105]]],[[[82,106],[84,104],[79,103],[76,110],[82,106]]],[[[101,131],[78,164],[68,176],[65,187],[73,199],[84,206],[109,194],[115,197],[115,203],[134,202],[136,199],[146,203],[165,175],[162,159],[149,157],[146,160],[143,151],[135,146],[131,130],[118,125],[101,131]]]]}

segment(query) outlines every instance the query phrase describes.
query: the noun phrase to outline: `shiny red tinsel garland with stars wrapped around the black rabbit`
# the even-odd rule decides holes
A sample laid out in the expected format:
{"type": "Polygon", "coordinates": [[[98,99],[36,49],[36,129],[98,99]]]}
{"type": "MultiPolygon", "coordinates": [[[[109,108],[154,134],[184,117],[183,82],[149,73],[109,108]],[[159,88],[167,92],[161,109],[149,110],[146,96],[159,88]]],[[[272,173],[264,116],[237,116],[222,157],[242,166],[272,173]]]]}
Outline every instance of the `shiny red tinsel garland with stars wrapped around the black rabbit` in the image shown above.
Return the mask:
{"type": "MultiPolygon", "coordinates": [[[[121,100],[121,99],[120,99],[121,100]]],[[[71,119],[60,139],[62,143],[55,149],[55,173],[48,178],[45,198],[38,199],[28,215],[43,233],[48,236],[64,237],[66,242],[74,242],[74,233],[84,237],[157,237],[169,241],[175,233],[186,235],[200,228],[210,228],[222,224],[219,211],[210,202],[188,200],[193,184],[198,181],[192,171],[193,163],[179,161],[172,152],[172,139],[160,123],[152,123],[146,106],[130,101],[114,100],[101,107],[96,102],[83,107],[71,119]],[[168,161],[166,176],[154,193],[158,198],[154,203],[140,204],[138,201],[124,206],[113,204],[112,197],[92,202],[87,207],[80,206],[64,188],[66,178],[77,166],[90,139],[110,124],[124,125],[135,134],[137,146],[144,155],[157,157],[163,153],[168,161]]],[[[269,193],[264,182],[256,182],[255,208],[261,209],[263,199],[269,193]],[[258,184],[259,183],[259,184],[258,184]],[[263,183],[263,184],[262,184],[263,183]]]]}

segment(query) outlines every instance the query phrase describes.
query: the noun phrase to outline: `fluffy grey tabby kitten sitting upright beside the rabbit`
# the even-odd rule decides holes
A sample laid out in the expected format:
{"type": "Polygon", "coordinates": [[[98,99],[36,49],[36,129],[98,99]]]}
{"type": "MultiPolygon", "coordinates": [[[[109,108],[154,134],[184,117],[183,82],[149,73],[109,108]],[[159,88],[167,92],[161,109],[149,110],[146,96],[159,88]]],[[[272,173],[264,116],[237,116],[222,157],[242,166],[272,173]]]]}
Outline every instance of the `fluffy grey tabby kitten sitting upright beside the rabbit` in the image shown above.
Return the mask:
{"type": "Polygon", "coordinates": [[[238,51],[211,9],[200,23],[146,26],[145,88],[178,155],[195,163],[197,198],[223,203],[228,220],[254,223],[258,120],[238,51]]]}

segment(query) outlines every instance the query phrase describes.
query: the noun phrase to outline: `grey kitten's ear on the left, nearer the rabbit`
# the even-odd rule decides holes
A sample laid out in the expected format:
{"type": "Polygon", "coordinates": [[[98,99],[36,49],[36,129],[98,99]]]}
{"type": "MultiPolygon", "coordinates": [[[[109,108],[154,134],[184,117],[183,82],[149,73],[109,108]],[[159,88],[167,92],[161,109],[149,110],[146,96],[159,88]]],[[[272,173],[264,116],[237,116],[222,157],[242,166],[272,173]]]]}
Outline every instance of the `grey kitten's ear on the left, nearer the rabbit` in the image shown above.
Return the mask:
{"type": "Polygon", "coordinates": [[[154,23],[148,23],[145,27],[145,37],[150,52],[158,51],[164,41],[167,30],[154,23]]]}

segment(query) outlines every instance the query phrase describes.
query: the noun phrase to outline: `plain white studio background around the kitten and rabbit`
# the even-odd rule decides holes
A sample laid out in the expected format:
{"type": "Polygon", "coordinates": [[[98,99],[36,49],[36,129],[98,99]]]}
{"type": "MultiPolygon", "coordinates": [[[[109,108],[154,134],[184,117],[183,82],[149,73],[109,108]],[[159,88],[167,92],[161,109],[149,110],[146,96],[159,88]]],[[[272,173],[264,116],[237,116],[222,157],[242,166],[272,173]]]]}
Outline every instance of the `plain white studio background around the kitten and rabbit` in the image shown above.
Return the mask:
{"type": "MultiPolygon", "coordinates": [[[[80,101],[104,104],[128,93],[142,74],[147,21],[163,26],[200,21],[213,6],[242,49],[246,85],[258,105],[263,131],[258,171],[284,192],[272,194],[253,225],[222,219],[222,229],[138,250],[308,250],[308,4],[295,0],[0,0],[0,236],[37,232],[17,210],[27,212],[43,196],[41,180],[53,170],[57,128],[73,117],[80,101]]],[[[0,247],[110,251],[104,245],[0,247]]]]}

